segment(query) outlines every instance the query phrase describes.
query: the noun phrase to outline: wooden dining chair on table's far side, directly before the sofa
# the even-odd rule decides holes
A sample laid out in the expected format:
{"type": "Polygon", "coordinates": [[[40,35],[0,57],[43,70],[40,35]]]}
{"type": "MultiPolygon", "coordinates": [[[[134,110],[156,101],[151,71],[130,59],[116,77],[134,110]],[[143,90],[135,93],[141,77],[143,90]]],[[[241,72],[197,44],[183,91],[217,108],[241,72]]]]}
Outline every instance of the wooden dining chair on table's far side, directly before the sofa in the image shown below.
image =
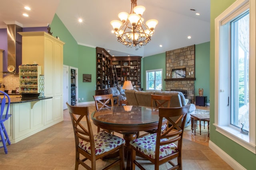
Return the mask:
{"type": "MultiPolygon", "coordinates": [[[[159,108],[159,107],[170,107],[171,104],[171,99],[172,96],[167,96],[167,95],[156,95],[156,94],[151,94],[151,107],[155,107],[155,108],[159,108]]],[[[164,131],[168,126],[167,124],[162,125],[161,129],[162,131],[164,131]]],[[[156,133],[157,128],[156,129],[152,129],[150,131],[146,131],[147,133],[145,133],[142,136],[148,135],[148,133],[156,133]]]]}

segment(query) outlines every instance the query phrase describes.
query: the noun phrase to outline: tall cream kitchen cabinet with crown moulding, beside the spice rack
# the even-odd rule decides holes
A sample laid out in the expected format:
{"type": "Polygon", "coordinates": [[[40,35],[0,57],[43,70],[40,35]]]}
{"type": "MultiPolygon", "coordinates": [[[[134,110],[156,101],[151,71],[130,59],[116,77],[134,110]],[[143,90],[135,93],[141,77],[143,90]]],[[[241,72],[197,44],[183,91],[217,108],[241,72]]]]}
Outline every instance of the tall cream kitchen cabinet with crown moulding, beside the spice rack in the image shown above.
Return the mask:
{"type": "MultiPolygon", "coordinates": [[[[22,64],[38,64],[44,74],[44,96],[52,96],[54,122],[63,120],[62,66],[64,42],[44,32],[19,32],[22,35],[22,64]],[[59,104],[60,103],[60,104],[59,104]]],[[[48,118],[50,117],[48,113],[48,118]]]]}

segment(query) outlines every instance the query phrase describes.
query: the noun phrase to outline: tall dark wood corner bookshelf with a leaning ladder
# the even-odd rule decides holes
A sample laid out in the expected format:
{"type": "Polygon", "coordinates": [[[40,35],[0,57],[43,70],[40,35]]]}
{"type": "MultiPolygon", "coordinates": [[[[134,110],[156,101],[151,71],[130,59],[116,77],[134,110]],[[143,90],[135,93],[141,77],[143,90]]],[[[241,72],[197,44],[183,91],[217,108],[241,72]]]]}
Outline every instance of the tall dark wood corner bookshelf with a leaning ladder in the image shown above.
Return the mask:
{"type": "Polygon", "coordinates": [[[141,58],[140,56],[112,57],[105,49],[96,47],[95,94],[108,94],[107,89],[114,86],[116,78],[119,86],[123,86],[125,80],[130,80],[132,85],[141,86],[141,58]],[[116,72],[112,72],[112,66],[116,72]]]}

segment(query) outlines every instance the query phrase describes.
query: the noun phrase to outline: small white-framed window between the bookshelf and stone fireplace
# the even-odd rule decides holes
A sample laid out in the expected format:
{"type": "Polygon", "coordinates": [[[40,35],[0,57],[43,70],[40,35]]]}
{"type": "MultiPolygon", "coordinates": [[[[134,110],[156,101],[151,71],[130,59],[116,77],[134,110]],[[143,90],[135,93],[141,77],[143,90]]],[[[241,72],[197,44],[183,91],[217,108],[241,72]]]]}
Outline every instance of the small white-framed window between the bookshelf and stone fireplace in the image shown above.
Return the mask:
{"type": "Polygon", "coordinates": [[[146,70],[146,90],[162,89],[162,69],[146,70]]]}

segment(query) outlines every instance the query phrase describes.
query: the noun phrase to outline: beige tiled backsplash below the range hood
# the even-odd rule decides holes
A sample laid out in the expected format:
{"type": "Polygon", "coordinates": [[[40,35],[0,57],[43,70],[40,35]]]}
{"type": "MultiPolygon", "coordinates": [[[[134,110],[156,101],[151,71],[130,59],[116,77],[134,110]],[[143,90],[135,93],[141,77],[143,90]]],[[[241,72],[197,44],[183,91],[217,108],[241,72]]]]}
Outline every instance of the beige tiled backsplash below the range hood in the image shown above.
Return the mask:
{"type": "Polygon", "coordinates": [[[16,90],[19,87],[19,74],[9,74],[3,79],[4,90],[16,90]]]}

